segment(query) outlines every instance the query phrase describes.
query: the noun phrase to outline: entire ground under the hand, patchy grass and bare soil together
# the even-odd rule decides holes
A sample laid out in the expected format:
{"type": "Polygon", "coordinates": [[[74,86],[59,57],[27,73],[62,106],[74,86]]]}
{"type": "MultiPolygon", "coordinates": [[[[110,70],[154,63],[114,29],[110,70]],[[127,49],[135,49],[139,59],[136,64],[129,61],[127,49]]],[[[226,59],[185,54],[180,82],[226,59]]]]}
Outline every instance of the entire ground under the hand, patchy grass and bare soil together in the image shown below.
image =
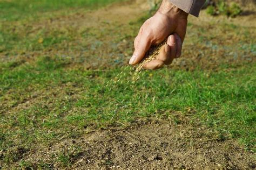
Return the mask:
{"type": "Polygon", "coordinates": [[[255,168],[253,11],[190,17],[183,57],[131,83],[144,1],[12,2],[0,1],[1,167],[255,168]]]}

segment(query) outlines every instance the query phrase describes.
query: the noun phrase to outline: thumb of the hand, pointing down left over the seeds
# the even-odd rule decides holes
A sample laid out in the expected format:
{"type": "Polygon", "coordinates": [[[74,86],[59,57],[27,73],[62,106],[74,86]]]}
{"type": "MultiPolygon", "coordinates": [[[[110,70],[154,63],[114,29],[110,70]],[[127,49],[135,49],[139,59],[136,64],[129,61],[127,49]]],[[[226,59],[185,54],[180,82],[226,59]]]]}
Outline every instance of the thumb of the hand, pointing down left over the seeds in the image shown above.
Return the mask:
{"type": "Polygon", "coordinates": [[[151,46],[149,37],[142,36],[140,38],[136,38],[136,40],[137,42],[134,43],[136,44],[135,50],[129,61],[130,65],[136,65],[139,61],[141,61],[151,46]]]}

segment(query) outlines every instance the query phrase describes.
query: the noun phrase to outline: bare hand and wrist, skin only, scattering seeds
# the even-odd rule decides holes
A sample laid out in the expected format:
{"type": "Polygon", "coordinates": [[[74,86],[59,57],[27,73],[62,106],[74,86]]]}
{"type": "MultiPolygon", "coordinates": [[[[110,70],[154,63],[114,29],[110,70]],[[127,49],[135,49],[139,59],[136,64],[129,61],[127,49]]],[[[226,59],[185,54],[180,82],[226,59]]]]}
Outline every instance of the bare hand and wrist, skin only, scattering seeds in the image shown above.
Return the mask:
{"type": "Polygon", "coordinates": [[[135,49],[129,61],[130,65],[139,63],[151,45],[159,44],[166,37],[168,37],[167,44],[160,49],[156,60],[146,63],[143,67],[158,69],[170,65],[174,58],[179,58],[186,35],[187,16],[186,12],[168,0],[163,0],[156,14],[140,27],[138,36],[134,40],[135,49]]]}

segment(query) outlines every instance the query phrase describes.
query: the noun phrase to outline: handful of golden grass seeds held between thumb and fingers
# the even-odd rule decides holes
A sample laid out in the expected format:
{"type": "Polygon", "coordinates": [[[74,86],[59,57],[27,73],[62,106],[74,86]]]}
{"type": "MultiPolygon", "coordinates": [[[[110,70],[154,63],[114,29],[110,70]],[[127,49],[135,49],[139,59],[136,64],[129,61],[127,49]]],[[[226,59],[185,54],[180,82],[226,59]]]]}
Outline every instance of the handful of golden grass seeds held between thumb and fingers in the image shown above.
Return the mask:
{"type": "Polygon", "coordinates": [[[136,72],[140,72],[140,70],[143,69],[143,65],[145,63],[156,59],[157,55],[160,53],[161,47],[163,47],[167,43],[167,39],[168,38],[166,38],[163,42],[161,42],[158,45],[152,45],[150,47],[149,51],[146,52],[143,60],[138,63],[137,68],[136,68],[136,72]]]}

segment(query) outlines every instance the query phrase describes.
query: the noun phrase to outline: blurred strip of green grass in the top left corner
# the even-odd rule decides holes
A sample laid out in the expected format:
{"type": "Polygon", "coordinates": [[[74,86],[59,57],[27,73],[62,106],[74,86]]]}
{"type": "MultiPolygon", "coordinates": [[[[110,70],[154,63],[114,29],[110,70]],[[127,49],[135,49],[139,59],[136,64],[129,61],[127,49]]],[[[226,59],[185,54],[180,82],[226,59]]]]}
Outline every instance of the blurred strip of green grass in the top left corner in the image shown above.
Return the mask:
{"type": "Polygon", "coordinates": [[[39,18],[42,17],[45,12],[63,9],[65,9],[65,12],[77,8],[95,9],[117,1],[118,0],[2,0],[0,1],[0,20],[14,21],[27,17],[39,18]]]}

